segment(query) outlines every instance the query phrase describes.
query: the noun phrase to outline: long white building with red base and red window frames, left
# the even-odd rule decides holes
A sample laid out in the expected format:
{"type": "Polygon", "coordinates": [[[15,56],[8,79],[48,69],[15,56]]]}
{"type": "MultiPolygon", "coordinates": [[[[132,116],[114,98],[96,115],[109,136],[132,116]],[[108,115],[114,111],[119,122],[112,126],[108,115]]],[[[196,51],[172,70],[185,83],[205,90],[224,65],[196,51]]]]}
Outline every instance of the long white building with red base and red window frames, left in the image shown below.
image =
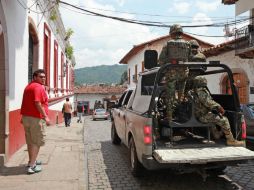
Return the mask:
{"type": "Polygon", "coordinates": [[[56,1],[0,1],[0,165],[24,143],[20,106],[37,69],[46,71],[49,117],[62,121],[66,97],[73,102],[73,62],[56,1]]]}

